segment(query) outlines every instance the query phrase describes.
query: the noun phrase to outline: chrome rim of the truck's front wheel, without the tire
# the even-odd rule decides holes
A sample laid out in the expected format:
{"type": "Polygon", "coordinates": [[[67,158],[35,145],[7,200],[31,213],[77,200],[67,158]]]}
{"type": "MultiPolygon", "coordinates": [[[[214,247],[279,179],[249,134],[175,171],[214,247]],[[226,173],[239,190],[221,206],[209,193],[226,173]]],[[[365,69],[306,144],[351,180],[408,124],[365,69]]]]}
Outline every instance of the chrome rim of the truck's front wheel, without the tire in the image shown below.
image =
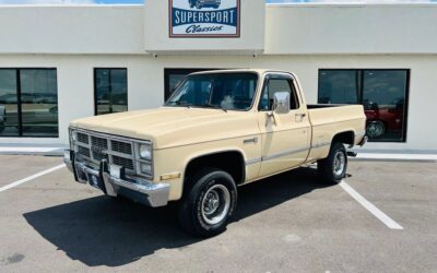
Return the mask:
{"type": "Polygon", "coordinates": [[[229,207],[229,190],[223,185],[214,185],[202,199],[202,218],[209,225],[218,224],[226,218],[229,207]]]}

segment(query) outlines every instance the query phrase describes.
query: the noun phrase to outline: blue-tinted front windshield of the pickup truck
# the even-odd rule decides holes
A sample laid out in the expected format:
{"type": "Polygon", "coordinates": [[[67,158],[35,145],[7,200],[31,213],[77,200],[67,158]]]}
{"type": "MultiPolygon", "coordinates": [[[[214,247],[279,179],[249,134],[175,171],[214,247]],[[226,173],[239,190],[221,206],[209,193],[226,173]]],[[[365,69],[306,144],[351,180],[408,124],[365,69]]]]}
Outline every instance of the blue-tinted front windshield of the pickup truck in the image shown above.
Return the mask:
{"type": "Polygon", "coordinates": [[[248,110],[257,90],[255,73],[215,73],[187,76],[165,106],[248,110]]]}

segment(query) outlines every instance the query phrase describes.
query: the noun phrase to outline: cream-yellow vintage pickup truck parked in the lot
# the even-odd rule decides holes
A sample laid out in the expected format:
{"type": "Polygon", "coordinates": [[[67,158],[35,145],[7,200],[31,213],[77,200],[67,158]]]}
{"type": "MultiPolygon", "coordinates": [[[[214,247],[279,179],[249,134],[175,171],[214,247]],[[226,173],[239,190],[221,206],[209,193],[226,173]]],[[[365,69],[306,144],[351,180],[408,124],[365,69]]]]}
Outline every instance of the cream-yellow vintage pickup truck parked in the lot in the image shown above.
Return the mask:
{"type": "Polygon", "coordinates": [[[208,71],[161,108],[72,121],[64,162],[109,197],[178,201],[182,228],[209,237],[226,229],[239,186],[311,163],[321,181],[343,179],[345,145],[363,145],[365,128],[361,105],[307,105],[293,73],[208,71]]]}

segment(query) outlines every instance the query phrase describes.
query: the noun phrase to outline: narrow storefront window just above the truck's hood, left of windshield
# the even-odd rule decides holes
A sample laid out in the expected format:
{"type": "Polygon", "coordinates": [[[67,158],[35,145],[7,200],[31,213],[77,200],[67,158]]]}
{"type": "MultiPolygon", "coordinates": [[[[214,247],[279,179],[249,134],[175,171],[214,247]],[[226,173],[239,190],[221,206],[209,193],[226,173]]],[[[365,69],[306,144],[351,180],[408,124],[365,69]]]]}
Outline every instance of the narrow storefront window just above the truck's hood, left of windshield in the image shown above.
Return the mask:
{"type": "Polygon", "coordinates": [[[127,69],[95,69],[96,115],[128,110],[127,69]]]}

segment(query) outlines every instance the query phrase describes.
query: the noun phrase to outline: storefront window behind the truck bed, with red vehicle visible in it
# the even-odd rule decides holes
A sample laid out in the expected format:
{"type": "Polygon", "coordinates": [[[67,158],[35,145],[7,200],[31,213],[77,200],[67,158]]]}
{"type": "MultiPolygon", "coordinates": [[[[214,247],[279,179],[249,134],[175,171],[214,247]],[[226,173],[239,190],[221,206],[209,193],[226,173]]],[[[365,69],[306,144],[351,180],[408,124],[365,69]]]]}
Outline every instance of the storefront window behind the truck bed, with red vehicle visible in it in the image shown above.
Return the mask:
{"type": "Polygon", "coordinates": [[[320,70],[320,104],[362,104],[370,141],[406,139],[409,70],[320,70]]]}

